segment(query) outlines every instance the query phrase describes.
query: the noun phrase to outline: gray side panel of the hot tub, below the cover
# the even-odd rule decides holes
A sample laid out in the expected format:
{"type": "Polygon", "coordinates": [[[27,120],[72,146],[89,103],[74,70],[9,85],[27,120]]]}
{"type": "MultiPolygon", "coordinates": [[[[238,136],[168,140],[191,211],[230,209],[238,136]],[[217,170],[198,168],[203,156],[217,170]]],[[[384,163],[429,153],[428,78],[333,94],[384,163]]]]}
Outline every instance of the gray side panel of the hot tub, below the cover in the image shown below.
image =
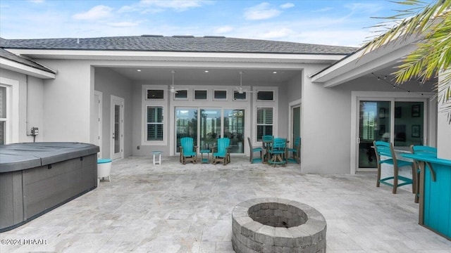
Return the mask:
{"type": "Polygon", "coordinates": [[[97,153],[0,173],[0,233],[97,188],[97,153]]]}

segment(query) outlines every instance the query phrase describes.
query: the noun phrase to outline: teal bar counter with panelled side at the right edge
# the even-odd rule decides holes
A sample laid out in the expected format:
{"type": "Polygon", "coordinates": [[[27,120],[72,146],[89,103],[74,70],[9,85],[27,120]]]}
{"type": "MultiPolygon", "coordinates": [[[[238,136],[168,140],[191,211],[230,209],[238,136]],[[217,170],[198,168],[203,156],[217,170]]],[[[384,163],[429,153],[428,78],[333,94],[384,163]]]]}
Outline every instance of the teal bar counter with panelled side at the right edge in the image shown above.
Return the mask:
{"type": "Polygon", "coordinates": [[[419,162],[419,224],[451,240],[451,160],[402,156],[419,162]]]}

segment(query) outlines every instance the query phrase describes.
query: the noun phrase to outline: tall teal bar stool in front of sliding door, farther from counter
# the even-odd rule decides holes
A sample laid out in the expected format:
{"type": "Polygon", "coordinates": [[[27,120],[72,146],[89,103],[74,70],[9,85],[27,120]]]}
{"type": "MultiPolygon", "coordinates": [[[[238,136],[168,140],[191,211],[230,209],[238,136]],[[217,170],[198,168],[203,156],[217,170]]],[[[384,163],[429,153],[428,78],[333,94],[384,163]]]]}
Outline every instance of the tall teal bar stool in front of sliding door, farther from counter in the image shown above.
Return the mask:
{"type": "MultiPolygon", "coordinates": [[[[378,179],[376,182],[376,187],[379,187],[381,183],[393,187],[393,194],[396,194],[396,190],[400,186],[406,186],[413,183],[412,179],[407,179],[404,176],[399,176],[399,168],[404,166],[412,167],[412,177],[414,175],[414,167],[412,162],[407,162],[404,160],[397,160],[395,150],[393,150],[393,143],[388,143],[385,141],[373,141],[373,147],[376,151],[376,160],[378,164],[378,179]],[[382,160],[381,157],[388,157],[388,159],[382,160]],[[387,176],[381,179],[381,165],[390,164],[393,166],[393,176],[387,176]],[[388,180],[393,179],[393,183],[389,183],[388,180]],[[398,183],[398,181],[403,181],[398,183]]],[[[412,185],[412,193],[414,193],[414,186],[412,185]]]]}

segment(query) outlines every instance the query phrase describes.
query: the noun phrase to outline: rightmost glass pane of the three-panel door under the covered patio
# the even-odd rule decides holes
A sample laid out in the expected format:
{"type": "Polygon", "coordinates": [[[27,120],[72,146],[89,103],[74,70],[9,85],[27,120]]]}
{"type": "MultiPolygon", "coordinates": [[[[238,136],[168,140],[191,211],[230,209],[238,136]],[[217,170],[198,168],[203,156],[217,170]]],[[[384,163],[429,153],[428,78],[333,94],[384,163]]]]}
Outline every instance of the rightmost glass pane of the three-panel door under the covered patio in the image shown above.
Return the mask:
{"type": "Polygon", "coordinates": [[[245,153],[245,110],[224,109],[224,136],[230,138],[230,153],[245,153]]]}

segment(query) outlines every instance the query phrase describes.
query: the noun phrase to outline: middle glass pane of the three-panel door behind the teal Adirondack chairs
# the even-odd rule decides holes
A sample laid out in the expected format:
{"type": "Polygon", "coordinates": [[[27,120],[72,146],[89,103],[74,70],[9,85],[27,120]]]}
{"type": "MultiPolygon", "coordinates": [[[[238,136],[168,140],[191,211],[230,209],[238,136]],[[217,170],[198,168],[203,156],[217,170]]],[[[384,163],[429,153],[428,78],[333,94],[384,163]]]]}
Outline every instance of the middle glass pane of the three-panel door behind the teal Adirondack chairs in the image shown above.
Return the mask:
{"type": "Polygon", "coordinates": [[[200,109],[200,150],[213,148],[221,137],[221,109],[200,109]]]}

